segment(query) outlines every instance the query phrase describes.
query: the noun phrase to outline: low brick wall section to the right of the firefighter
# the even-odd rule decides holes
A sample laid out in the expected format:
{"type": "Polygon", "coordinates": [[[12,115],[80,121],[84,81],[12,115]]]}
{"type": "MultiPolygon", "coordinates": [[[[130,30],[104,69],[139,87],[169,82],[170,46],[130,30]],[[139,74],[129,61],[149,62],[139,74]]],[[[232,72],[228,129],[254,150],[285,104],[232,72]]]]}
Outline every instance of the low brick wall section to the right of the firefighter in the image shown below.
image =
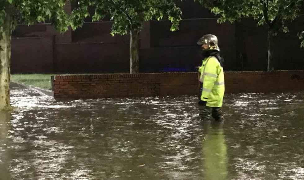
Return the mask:
{"type": "Polygon", "coordinates": [[[242,71],[225,73],[226,92],[304,91],[304,71],[242,71]]]}

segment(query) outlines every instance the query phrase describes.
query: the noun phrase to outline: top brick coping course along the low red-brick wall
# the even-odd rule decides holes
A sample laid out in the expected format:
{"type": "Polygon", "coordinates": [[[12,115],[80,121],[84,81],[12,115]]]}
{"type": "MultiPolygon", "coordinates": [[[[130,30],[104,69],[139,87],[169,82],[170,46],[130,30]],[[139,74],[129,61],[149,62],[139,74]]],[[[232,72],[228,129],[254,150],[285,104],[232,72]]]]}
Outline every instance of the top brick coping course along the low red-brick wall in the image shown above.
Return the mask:
{"type": "MultiPolygon", "coordinates": [[[[245,75],[264,75],[264,74],[280,74],[280,73],[304,73],[304,70],[282,70],[282,71],[226,71],[225,74],[245,74],[245,75]]],[[[157,77],[157,76],[187,76],[196,74],[197,72],[168,72],[168,73],[138,73],[138,74],[71,74],[71,75],[56,75],[55,79],[109,79],[109,78],[140,78],[140,77],[157,77]]]]}

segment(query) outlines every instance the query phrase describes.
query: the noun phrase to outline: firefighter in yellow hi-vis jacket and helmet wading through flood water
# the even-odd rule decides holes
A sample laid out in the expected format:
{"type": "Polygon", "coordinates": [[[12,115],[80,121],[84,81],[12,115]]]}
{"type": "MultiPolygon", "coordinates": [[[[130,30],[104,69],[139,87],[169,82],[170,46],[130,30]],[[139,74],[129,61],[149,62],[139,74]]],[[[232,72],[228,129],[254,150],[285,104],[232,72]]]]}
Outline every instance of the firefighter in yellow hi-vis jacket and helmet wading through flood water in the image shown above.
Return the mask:
{"type": "Polygon", "coordinates": [[[198,70],[202,87],[199,95],[200,115],[206,118],[211,114],[215,120],[221,120],[225,83],[217,36],[206,34],[197,44],[201,45],[203,55],[203,63],[198,70]]]}

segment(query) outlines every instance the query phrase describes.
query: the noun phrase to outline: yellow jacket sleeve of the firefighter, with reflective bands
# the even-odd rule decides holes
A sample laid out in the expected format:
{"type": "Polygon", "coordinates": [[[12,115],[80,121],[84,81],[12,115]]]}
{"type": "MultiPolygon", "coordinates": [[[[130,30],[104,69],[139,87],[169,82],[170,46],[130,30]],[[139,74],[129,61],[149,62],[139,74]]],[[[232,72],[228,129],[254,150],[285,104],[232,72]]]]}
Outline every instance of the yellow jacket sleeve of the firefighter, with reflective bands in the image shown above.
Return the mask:
{"type": "Polygon", "coordinates": [[[203,82],[203,92],[202,92],[202,101],[208,101],[210,93],[213,89],[214,83],[218,77],[218,68],[220,67],[220,63],[214,57],[209,59],[209,62],[206,64],[203,82]]]}

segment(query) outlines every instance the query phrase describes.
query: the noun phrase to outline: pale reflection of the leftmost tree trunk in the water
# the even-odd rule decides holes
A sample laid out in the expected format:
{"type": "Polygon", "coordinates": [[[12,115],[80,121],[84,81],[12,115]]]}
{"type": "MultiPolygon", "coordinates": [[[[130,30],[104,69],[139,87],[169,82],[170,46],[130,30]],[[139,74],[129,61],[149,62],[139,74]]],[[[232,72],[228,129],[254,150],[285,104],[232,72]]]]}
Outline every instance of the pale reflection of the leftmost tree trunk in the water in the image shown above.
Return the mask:
{"type": "Polygon", "coordinates": [[[5,150],[0,152],[0,172],[1,172],[1,178],[3,179],[11,179],[9,172],[10,152],[6,148],[6,146],[8,146],[7,133],[10,128],[9,126],[10,120],[11,120],[10,113],[0,111],[0,149],[5,150]]]}

